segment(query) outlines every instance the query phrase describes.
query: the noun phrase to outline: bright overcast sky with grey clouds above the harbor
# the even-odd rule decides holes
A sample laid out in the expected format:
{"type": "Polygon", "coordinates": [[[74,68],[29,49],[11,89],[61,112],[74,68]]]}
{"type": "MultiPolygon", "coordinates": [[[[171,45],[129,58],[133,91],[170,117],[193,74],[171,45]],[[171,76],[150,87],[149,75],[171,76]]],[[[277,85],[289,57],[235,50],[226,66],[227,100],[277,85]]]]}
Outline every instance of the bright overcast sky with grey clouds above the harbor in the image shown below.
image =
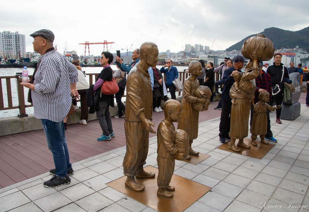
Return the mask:
{"type": "MultiPolygon", "coordinates": [[[[211,47],[214,39],[212,49],[220,50],[265,28],[298,31],[308,27],[308,6],[307,0],[15,0],[0,8],[0,31],[24,34],[27,52],[33,51],[29,35],[39,29],[53,31],[59,52],[67,46],[78,55],[85,48],[79,43],[104,40],[115,42],[108,44],[111,52],[132,44],[132,49],[139,48],[145,41],[155,42],[159,52],[178,52],[185,44],[211,47]]],[[[90,45],[90,54],[102,51],[103,44],[90,45]]]]}

